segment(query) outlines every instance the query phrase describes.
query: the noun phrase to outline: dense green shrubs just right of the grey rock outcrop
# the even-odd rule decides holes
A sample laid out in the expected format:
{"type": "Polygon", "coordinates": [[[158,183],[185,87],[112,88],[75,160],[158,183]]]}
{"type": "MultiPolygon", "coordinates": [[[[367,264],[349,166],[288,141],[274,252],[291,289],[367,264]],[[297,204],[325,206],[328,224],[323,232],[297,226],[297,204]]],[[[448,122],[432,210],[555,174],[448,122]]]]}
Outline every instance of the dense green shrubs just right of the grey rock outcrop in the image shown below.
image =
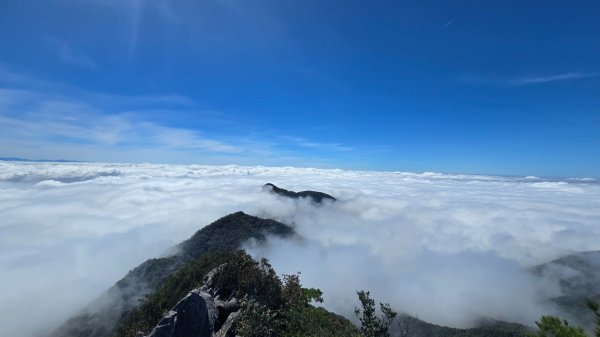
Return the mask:
{"type": "Polygon", "coordinates": [[[220,291],[243,298],[237,332],[244,337],[359,336],[350,321],[311,304],[323,301],[319,289],[303,288],[299,274],[282,281],[266,259],[240,252],[219,275],[220,291]]]}

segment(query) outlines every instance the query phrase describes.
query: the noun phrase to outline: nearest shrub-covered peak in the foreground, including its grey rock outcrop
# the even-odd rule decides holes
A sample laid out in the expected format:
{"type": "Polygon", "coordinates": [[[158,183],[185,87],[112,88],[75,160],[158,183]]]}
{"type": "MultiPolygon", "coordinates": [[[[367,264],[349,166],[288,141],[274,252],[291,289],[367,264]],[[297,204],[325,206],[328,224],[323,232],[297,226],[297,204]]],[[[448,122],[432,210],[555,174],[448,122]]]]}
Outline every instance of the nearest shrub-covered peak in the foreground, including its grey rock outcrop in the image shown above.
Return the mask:
{"type": "MultiPolygon", "coordinates": [[[[136,337],[142,332],[152,337],[163,336],[164,333],[179,337],[190,335],[194,332],[191,330],[197,330],[193,334],[195,337],[213,336],[206,331],[206,325],[216,336],[233,336],[240,324],[253,324],[244,315],[248,313],[247,304],[261,303],[256,307],[258,314],[271,312],[272,315],[269,315],[270,320],[261,321],[260,326],[251,329],[253,336],[263,337],[258,330],[269,326],[280,337],[358,337],[358,330],[346,318],[300,299],[304,295],[298,297],[299,294],[307,294],[311,290],[301,288],[299,282],[294,282],[298,279],[289,280],[285,277],[280,279],[268,262],[254,261],[241,251],[207,253],[170,276],[137,310],[124,317],[115,336],[136,337]],[[223,264],[208,271],[209,266],[219,262],[223,264]],[[204,301],[201,302],[216,307],[218,315],[209,320],[188,315],[180,308],[186,307],[184,303],[191,302],[190,295],[196,299],[199,297],[195,295],[203,297],[204,301]]],[[[206,306],[200,304],[201,307],[206,306]]],[[[201,308],[197,311],[211,310],[201,308]]]]}

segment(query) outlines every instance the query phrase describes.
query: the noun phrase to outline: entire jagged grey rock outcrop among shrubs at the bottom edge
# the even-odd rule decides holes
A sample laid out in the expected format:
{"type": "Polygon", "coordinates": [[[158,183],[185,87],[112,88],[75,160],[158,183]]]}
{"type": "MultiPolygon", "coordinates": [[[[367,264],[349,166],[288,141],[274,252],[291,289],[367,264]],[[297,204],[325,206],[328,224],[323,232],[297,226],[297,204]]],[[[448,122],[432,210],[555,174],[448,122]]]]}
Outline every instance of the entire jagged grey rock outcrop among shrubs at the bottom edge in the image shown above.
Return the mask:
{"type": "Polygon", "coordinates": [[[146,337],[235,337],[239,302],[236,298],[218,299],[218,291],[210,287],[223,266],[211,270],[204,278],[209,283],[190,291],[146,337]]]}

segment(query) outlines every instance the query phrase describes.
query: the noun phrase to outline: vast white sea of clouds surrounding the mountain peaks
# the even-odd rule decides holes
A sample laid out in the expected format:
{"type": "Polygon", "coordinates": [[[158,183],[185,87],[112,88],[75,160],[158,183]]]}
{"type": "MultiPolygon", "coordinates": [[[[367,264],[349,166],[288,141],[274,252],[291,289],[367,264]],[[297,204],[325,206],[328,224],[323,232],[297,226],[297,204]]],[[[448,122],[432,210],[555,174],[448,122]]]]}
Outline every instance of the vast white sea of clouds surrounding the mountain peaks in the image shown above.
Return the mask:
{"type": "Polygon", "coordinates": [[[300,271],[348,316],[366,289],[438,324],[532,324],[558,288],[527,268],[600,249],[594,179],[0,162],[0,335],[48,332],[137,264],[239,210],[293,225],[303,241],[245,248],[280,273],[300,271]],[[278,197],[267,182],[338,202],[278,197]]]}

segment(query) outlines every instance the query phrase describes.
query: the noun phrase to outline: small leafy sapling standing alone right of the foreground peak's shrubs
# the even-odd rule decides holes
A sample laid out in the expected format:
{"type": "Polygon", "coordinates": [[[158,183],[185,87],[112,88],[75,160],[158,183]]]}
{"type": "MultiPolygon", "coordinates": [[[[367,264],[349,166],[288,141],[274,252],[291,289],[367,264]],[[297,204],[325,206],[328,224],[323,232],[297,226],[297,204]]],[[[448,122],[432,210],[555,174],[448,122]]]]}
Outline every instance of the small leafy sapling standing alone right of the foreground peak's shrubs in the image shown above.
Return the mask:
{"type": "Polygon", "coordinates": [[[389,304],[379,303],[381,318],[377,317],[375,312],[375,300],[371,298],[368,291],[357,291],[358,300],[362,306],[354,309],[354,314],[360,321],[360,332],[364,337],[389,337],[390,325],[397,313],[392,310],[389,304]]]}

